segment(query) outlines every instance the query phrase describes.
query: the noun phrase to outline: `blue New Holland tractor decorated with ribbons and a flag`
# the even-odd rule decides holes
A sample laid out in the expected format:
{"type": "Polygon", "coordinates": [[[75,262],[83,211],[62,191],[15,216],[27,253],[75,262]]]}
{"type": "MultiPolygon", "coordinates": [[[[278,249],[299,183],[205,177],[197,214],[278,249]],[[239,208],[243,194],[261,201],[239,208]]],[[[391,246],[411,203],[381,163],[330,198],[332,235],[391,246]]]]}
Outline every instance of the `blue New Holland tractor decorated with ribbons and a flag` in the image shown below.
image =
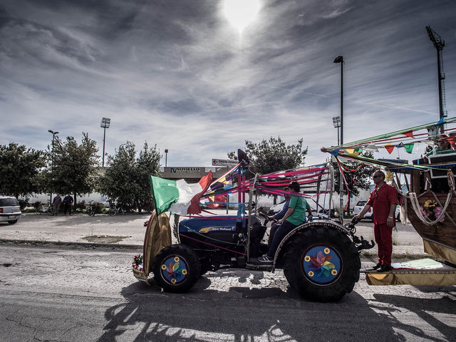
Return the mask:
{"type": "Polygon", "coordinates": [[[133,261],[135,277],[148,283],[153,274],[165,291],[181,292],[209,270],[284,269],[290,286],[306,299],[336,301],[351,292],[360,276],[360,251],[374,244],[357,237],[353,224],[343,225],[324,214],[332,202],[332,164],[257,174],[247,180],[249,160],[240,150],[238,160],[217,180],[209,173],[197,184],[151,177],[155,212],[146,224],[143,253],[133,261]],[[289,193],[284,187],[291,181],[301,186],[293,195],[305,197],[322,213],[286,235],[271,264],[261,264],[257,257],[266,253],[267,244],[262,242],[266,225],[260,218],[266,215],[254,204],[260,193],[289,193]],[[204,198],[227,194],[237,197],[237,202],[224,203],[237,208],[235,215],[217,215],[199,206],[204,198]],[[169,212],[174,213],[171,222],[169,212]]]}

